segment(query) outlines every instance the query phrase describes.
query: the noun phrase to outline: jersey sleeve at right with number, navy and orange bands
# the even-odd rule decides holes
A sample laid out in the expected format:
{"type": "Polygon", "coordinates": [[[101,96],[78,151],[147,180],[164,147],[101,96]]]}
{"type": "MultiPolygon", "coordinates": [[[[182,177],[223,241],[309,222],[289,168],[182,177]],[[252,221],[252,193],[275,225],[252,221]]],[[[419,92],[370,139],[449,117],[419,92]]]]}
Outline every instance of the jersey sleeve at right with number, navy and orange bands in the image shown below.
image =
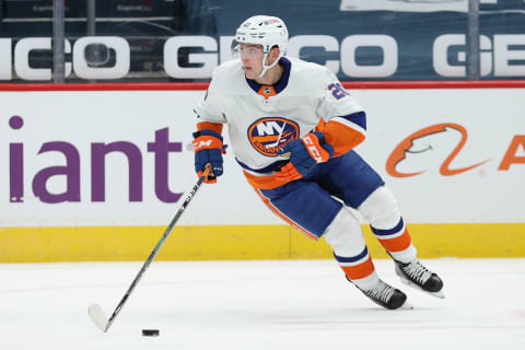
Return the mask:
{"type": "Polygon", "coordinates": [[[325,122],[322,120],[318,130],[325,133],[326,142],[334,148],[334,156],[339,156],[365,139],[366,115],[328,69],[323,83],[325,91],[317,114],[325,122]]]}

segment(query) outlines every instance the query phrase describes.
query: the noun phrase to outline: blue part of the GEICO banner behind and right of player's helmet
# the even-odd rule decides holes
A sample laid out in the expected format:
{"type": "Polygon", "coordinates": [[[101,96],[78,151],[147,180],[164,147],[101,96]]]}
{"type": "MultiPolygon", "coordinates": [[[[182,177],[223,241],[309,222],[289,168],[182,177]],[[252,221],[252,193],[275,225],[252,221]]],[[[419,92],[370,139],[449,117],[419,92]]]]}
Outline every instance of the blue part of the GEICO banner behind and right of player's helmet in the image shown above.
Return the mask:
{"type": "MultiPolygon", "coordinates": [[[[200,3],[200,9],[213,12],[219,36],[233,35],[236,26],[254,14],[281,18],[291,36],[293,52],[289,54],[327,65],[341,80],[467,77],[468,0],[200,3]],[[294,48],[298,36],[304,45],[299,52],[294,48]]],[[[481,78],[525,77],[523,1],[481,0],[479,33],[481,78]]]]}

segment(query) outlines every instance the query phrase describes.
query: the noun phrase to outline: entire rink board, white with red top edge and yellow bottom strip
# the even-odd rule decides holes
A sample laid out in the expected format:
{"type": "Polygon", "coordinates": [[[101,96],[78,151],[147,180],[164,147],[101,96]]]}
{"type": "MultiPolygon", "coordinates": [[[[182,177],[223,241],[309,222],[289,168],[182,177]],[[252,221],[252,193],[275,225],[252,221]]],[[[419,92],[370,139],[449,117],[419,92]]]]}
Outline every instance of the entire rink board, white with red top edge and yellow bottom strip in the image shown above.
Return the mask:
{"type": "MultiPolygon", "coordinates": [[[[525,256],[524,81],[345,85],[368,113],[357,151],[395,194],[421,257],[525,256]]],[[[0,86],[0,261],[144,259],[196,182],[192,108],[206,89],[0,86]]],[[[231,151],[224,170],[160,259],[331,256],[265,207],[231,151]]]]}

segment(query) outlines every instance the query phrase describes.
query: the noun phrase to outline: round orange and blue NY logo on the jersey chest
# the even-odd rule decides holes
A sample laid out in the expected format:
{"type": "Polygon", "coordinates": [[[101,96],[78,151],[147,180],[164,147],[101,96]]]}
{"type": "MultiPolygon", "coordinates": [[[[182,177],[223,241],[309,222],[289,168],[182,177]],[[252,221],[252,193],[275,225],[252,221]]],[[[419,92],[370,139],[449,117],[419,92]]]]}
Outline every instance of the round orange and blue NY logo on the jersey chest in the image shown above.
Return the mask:
{"type": "Polygon", "coordinates": [[[277,156],[281,147],[298,137],[299,125],[285,118],[260,118],[248,128],[248,140],[252,147],[268,156],[277,156]]]}

